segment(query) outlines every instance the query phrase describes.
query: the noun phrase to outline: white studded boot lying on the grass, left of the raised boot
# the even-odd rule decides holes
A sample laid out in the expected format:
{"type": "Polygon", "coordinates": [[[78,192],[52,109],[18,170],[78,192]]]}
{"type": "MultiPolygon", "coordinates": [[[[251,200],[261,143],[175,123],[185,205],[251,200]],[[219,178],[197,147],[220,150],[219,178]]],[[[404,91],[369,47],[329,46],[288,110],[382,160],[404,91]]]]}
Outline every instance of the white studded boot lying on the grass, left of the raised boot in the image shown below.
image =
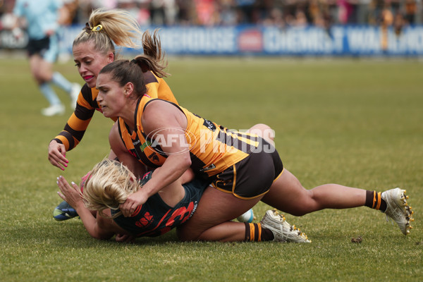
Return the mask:
{"type": "Polygon", "coordinates": [[[295,225],[291,226],[290,223],[286,222],[285,216],[278,214],[276,210],[267,211],[260,223],[262,224],[262,227],[267,228],[274,233],[274,241],[276,242],[312,242],[308,240],[307,235],[302,233],[300,229],[295,227],[295,225]]]}

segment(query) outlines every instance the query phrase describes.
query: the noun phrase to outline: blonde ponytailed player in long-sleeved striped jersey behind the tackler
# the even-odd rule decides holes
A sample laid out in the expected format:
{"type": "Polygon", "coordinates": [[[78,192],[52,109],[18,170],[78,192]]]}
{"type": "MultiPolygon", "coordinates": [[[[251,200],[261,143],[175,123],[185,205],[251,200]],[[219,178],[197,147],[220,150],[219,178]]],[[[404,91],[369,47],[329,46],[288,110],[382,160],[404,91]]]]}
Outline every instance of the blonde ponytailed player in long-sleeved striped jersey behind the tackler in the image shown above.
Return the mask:
{"type": "MultiPolygon", "coordinates": [[[[130,13],[123,10],[94,10],[86,27],[73,41],[73,58],[75,66],[85,85],[82,87],[76,109],[68,119],[65,128],[49,143],[49,161],[52,165],[64,170],[68,166],[66,152],[78,145],[91,121],[94,111],[101,111],[97,102],[98,91],[95,89],[99,71],[116,59],[114,44],[120,47],[137,48],[135,41],[142,39],[142,47],[146,62],[152,68],[145,70],[145,84],[148,94],[171,101],[175,97],[163,77],[166,64],[162,62],[160,42],[149,32],[142,33],[137,21],[130,13]],[[151,63],[155,61],[155,63],[151,63]]],[[[116,120],[116,118],[112,117],[116,120]]],[[[111,152],[111,158],[115,156],[111,152]]]]}

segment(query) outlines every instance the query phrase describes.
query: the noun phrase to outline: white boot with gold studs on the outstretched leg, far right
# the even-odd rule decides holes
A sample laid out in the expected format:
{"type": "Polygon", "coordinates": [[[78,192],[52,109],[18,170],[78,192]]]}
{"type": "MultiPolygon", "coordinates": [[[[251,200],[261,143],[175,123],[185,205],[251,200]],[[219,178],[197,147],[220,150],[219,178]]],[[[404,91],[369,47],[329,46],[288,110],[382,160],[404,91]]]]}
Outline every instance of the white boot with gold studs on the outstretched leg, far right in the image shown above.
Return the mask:
{"type": "Polygon", "coordinates": [[[412,226],[411,221],[414,221],[411,207],[407,204],[408,196],[405,195],[406,191],[400,188],[386,190],[382,192],[381,198],[386,202],[386,221],[388,216],[398,224],[401,232],[404,235],[410,233],[412,226]]]}

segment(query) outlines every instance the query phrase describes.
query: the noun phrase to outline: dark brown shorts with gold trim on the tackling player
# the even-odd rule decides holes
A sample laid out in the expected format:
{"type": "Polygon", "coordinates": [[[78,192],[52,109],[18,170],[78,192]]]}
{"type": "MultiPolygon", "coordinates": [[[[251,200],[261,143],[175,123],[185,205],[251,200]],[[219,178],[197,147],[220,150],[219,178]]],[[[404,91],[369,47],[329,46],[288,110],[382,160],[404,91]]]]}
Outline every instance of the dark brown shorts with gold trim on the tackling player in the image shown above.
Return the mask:
{"type": "MultiPolygon", "coordinates": [[[[269,145],[265,140],[263,142],[269,145]]],[[[273,152],[251,152],[242,161],[226,168],[216,175],[212,186],[245,200],[265,194],[274,180],[283,173],[281,158],[276,149],[271,148],[273,152]]]]}

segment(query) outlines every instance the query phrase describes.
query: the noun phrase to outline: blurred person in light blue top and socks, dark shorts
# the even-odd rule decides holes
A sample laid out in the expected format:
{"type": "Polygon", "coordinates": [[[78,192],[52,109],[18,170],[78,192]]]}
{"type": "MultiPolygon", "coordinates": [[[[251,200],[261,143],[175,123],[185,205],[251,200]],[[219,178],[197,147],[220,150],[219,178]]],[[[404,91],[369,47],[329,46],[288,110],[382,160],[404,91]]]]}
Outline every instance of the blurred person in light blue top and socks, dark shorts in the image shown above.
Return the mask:
{"type": "Polygon", "coordinates": [[[17,0],[13,8],[13,13],[18,17],[13,33],[16,37],[21,36],[19,27],[23,26],[25,20],[30,38],[27,51],[31,73],[37,81],[39,90],[50,104],[49,107],[42,109],[43,116],[63,114],[65,111],[61,100],[51,88],[51,83],[69,94],[73,109],[80,90],[80,85],[69,82],[61,73],[52,70],[59,54],[57,32],[63,11],[63,2],[59,0],[17,0]]]}

